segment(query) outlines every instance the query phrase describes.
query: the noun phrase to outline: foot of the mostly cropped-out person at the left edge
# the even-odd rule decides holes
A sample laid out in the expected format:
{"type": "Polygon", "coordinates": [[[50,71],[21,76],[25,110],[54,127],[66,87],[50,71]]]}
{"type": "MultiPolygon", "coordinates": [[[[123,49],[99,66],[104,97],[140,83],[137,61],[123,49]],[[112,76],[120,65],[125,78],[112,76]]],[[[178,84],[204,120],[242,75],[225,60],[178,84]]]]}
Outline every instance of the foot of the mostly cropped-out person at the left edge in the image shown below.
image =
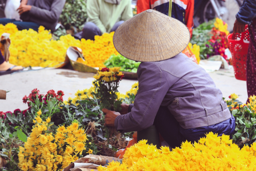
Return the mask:
{"type": "Polygon", "coordinates": [[[7,63],[2,55],[2,52],[0,51],[0,75],[11,74],[13,72],[22,70],[23,67],[21,66],[14,66],[11,63],[7,63]]]}

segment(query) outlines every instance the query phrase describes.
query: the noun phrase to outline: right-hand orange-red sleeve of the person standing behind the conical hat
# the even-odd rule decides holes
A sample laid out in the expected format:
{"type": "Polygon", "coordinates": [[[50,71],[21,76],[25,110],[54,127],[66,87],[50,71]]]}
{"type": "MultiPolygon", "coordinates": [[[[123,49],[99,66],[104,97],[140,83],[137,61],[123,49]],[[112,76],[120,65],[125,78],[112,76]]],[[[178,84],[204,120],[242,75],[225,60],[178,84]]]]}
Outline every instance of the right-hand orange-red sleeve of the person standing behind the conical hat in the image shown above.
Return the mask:
{"type": "Polygon", "coordinates": [[[194,0],[189,0],[187,3],[187,8],[185,10],[185,22],[190,32],[190,38],[192,38],[193,27],[194,27],[193,16],[194,16],[194,0]]]}

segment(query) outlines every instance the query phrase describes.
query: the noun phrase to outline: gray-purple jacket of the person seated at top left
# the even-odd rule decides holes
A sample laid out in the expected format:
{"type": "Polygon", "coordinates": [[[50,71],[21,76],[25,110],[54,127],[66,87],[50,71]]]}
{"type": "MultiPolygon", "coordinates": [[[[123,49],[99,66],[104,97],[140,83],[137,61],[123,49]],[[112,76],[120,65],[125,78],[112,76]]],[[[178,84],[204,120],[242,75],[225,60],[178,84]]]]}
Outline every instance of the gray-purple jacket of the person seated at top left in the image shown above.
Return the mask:
{"type": "Polygon", "coordinates": [[[28,0],[27,5],[31,5],[32,8],[20,15],[20,19],[24,22],[38,23],[54,32],[65,2],[66,0],[28,0]]]}

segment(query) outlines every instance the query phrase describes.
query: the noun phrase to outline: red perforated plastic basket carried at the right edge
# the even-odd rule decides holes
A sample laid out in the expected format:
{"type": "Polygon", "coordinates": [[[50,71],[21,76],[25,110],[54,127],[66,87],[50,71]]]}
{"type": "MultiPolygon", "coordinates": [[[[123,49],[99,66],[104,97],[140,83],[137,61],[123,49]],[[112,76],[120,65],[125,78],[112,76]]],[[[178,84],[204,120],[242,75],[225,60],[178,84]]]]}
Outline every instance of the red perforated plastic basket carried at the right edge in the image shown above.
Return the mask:
{"type": "Polygon", "coordinates": [[[234,76],[239,80],[246,81],[246,59],[249,47],[249,32],[248,26],[245,26],[245,32],[227,36],[229,50],[232,54],[234,76]]]}

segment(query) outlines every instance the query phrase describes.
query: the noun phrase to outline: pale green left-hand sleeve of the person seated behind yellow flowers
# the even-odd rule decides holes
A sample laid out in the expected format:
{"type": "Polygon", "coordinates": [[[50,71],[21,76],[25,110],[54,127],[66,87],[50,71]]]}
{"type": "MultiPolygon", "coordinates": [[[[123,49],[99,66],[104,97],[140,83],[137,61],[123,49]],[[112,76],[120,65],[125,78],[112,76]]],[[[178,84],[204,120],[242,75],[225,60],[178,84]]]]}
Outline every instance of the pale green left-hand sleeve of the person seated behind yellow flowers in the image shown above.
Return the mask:
{"type": "Polygon", "coordinates": [[[99,19],[99,4],[97,0],[87,0],[87,16],[88,22],[93,22],[98,26],[101,33],[106,32],[105,26],[102,24],[101,20],[99,19]]]}

